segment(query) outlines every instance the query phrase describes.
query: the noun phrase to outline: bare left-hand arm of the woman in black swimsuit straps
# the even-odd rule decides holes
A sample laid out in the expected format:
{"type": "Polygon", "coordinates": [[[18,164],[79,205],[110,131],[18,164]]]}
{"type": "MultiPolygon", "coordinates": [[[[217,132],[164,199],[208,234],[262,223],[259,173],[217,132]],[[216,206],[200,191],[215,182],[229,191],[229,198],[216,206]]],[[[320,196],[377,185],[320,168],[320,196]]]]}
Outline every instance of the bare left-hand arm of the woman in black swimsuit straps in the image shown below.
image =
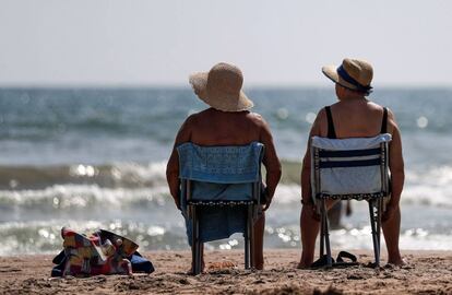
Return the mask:
{"type": "Polygon", "coordinates": [[[316,121],[311,127],[309,132],[308,146],[306,148],[306,154],[302,160],[301,168],[301,199],[302,202],[308,204],[312,203],[311,198],[311,138],[316,135],[321,135],[321,117],[324,110],[320,110],[317,115],[316,121]]]}

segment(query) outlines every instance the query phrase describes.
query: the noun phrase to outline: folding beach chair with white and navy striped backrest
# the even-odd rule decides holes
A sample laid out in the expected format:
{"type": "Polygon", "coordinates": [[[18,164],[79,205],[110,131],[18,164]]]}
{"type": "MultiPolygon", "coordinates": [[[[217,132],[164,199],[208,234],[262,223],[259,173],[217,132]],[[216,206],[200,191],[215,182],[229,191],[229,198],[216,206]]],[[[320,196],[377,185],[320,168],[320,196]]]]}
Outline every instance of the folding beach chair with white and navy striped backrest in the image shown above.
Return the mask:
{"type": "Polygon", "coordinates": [[[388,148],[391,134],[374,138],[330,139],[313,137],[311,141],[311,191],[321,216],[320,258],[326,252],[332,267],[329,221],[325,202],[366,200],[369,202],[374,264],[380,266],[380,236],[383,198],[390,194],[388,148]]]}

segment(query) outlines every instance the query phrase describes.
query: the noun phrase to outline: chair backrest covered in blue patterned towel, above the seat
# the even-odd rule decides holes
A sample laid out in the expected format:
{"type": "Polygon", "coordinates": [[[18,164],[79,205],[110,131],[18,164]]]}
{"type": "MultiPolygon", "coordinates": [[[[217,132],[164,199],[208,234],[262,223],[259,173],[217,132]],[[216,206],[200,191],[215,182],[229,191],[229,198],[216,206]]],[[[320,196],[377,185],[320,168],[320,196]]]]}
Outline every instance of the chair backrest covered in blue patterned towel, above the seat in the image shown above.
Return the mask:
{"type": "Polygon", "coordinates": [[[249,200],[261,181],[263,150],[260,142],[228,146],[187,142],[177,146],[179,177],[190,181],[193,200],[249,200]]]}

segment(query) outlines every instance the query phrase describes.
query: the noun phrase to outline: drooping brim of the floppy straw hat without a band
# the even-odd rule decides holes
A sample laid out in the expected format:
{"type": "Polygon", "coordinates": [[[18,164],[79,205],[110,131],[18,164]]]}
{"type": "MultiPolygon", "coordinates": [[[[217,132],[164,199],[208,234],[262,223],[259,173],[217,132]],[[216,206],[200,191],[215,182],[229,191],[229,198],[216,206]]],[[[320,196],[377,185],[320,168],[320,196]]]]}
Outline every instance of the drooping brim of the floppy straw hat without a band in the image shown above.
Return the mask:
{"type": "Polygon", "coordinates": [[[207,92],[209,72],[198,72],[189,76],[189,82],[197,96],[211,107],[222,111],[242,111],[254,106],[253,102],[240,91],[238,97],[226,95],[225,97],[212,97],[207,92]]]}

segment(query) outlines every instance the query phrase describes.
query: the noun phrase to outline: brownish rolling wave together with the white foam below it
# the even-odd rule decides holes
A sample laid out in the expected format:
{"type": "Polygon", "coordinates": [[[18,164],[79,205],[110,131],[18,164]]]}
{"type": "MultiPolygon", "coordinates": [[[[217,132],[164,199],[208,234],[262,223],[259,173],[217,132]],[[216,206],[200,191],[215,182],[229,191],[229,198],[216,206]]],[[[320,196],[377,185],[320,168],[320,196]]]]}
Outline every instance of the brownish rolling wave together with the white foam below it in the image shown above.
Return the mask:
{"type": "MultiPolygon", "coordinates": [[[[274,198],[276,203],[299,202],[300,169],[300,163],[283,161],[283,177],[274,198]]],[[[0,167],[0,205],[69,210],[98,203],[119,206],[165,202],[169,198],[165,170],[166,162],[3,166],[0,167]]],[[[408,169],[402,202],[452,206],[452,166],[408,169]]]]}

